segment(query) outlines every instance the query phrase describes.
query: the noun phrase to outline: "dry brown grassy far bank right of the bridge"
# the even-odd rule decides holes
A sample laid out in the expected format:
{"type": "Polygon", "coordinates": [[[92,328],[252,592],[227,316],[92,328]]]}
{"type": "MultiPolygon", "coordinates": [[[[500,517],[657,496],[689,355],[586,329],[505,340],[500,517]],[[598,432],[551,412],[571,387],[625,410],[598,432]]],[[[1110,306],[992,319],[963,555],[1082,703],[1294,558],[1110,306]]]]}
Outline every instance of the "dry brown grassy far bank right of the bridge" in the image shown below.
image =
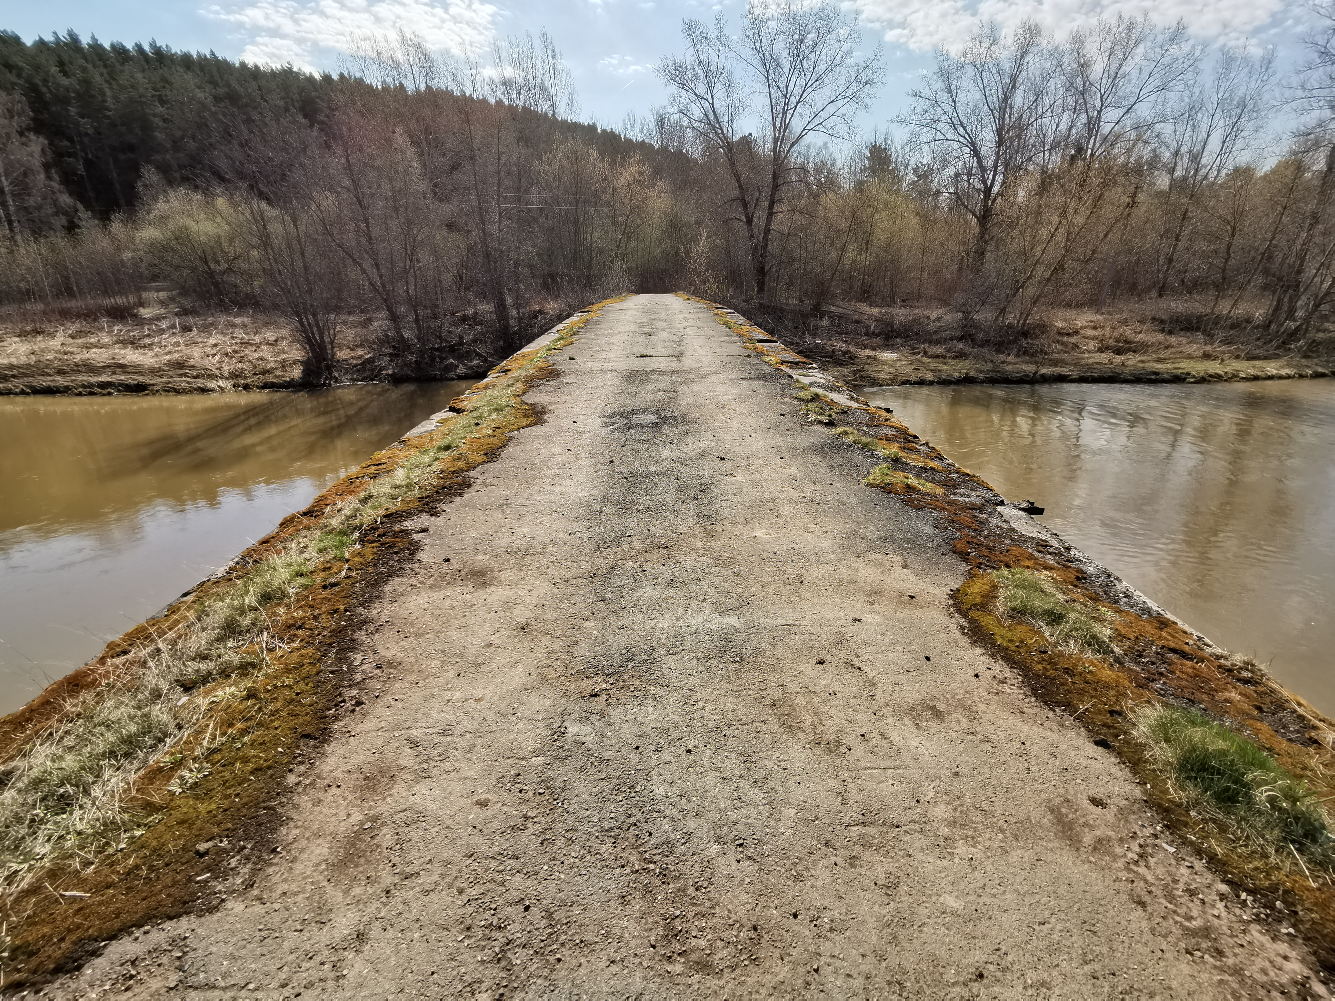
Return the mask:
{"type": "Polygon", "coordinates": [[[1189,302],[1059,310],[1025,331],[918,307],[737,308],[849,386],[1037,382],[1243,382],[1335,375],[1335,336],[1298,346],[1189,302]]]}

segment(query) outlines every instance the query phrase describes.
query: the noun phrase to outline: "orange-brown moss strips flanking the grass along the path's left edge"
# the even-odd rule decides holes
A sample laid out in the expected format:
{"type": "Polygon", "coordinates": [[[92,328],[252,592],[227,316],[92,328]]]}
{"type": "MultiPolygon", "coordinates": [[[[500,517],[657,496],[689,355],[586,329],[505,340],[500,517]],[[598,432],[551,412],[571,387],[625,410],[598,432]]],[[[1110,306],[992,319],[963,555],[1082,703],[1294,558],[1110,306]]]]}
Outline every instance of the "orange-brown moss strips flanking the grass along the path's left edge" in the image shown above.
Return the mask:
{"type": "MultiPolygon", "coordinates": [[[[553,348],[570,343],[603,304],[566,324],[553,348]]],[[[399,563],[417,551],[415,537],[400,523],[421,513],[433,514],[462,492],[470,470],[494,459],[513,431],[541,420],[521,396],[537,382],[558,374],[546,354],[527,351],[494,370],[490,386],[507,383],[513,400],[477,422],[475,430],[441,456],[431,487],[384,511],[360,530],[346,559],[320,563],[310,586],[268,610],[268,631],[256,641],[266,655],[262,669],[190,693],[207,710],[191,733],[174,742],[168,755],[160,755],[136,775],[127,797],[143,833],[119,852],[55,860],[5,897],[0,917],[9,945],[3,969],[7,986],[40,982],[128,928],[216,905],[220,897],[210,892],[210,881],[203,877],[223,864],[235,864],[234,873],[246,872],[270,850],[278,850],[274,834],[282,818],[266,807],[287,789],[298,749],[322,741],[335,709],[355,694],[352,683],[331,670],[355,645],[360,622],[351,622],[350,613],[374,599],[398,573],[399,563]],[[210,703],[212,697],[219,698],[210,703]],[[204,852],[199,850],[202,845],[207,845],[204,852]]],[[[116,673],[120,654],[174,629],[200,601],[278,551],[284,541],[319,527],[332,507],[358,495],[376,476],[450,435],[457,438],[459,419],[449,418],[434,431],[376,452],[306,510],[284,518],[226,574],[113,641],[88,667],[0,721],[5,759],[13,759],[53,723],[87,706],[101,682],[116,673]]]]}

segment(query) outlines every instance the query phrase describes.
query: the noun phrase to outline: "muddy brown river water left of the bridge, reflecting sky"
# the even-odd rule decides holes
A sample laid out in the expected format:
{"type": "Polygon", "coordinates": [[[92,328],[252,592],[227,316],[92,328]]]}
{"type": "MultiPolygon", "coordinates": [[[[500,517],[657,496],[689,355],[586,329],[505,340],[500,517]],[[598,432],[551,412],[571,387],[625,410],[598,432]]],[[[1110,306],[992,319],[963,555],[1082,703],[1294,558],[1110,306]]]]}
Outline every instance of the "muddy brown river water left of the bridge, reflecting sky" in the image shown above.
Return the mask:
{"type": "Polygon", "coordinates": [[[0,713],[471,384],[0,398],[0,713]]]}

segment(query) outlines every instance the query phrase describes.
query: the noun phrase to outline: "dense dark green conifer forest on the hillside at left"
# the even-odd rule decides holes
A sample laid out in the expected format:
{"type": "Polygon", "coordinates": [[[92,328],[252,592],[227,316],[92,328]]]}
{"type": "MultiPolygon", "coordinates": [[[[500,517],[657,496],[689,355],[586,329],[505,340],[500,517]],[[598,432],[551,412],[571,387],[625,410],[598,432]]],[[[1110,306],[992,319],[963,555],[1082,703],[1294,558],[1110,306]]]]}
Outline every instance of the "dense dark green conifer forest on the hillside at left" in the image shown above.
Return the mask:
{"type": "Polygon", "coordinates": [[[314,123],[335,84],[156,43],[104,45],[69,32],[27,44],[0,32],[0,91],[21,100],[17,116],[31,116],[65,191],[97,216],[134,206],[146,165],[170,183],[207,175],[238,121],[314,123]]]}

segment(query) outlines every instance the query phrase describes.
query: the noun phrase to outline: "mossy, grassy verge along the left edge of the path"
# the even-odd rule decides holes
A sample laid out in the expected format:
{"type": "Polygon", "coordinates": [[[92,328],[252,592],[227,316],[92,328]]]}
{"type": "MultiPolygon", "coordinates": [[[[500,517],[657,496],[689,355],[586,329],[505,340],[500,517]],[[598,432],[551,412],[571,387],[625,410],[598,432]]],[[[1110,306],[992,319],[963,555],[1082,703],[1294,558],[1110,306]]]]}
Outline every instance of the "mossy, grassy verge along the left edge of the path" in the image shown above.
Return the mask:
{"type": "Polygon", "coordinates": [[[212,906],[258,866],[275,798],[355,713],[359,609],[411,558],[400,523],[467,486],[538,419],[523,395],[599,307],[371,456],[226,574],[0,721],[3,984],[32,982],[150,920],[212,906]]]}

